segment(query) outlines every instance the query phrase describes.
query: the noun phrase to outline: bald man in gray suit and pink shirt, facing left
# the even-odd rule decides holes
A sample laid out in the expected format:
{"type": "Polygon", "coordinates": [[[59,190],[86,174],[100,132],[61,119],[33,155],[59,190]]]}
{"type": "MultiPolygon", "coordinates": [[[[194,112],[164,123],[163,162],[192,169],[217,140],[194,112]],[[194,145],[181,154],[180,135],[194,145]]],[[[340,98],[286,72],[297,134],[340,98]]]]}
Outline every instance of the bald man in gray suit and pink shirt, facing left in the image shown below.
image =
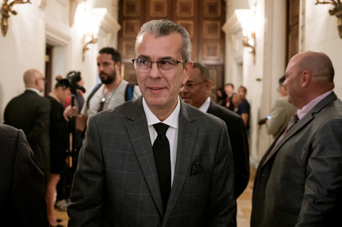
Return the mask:
{"type": "Polygon", "coordinates": [[[332,62],[318,51],[299,53],[285,75],[299,120],[259,163],[251,227],[342,226],[342,102],[332,91],[332,62]]]}

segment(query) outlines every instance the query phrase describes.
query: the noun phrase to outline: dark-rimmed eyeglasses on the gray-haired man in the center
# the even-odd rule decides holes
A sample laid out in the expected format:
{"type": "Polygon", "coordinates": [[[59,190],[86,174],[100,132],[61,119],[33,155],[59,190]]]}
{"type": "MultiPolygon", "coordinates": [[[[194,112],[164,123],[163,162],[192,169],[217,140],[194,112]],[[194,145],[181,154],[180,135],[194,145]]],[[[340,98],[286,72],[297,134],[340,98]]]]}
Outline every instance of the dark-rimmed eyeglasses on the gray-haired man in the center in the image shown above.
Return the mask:
{"type": "Polygon", "coordinates": [[[159,61],[150,61],[144,58],[135,58],[135,59],[132,59],[132,62],[134,64],[134,68],[136,71],[145,73],[145,72],[148,72],[152,68],[153,62],[157,63],[157,67],[159,70],[168,71],[170,69],[173,69],[175,65],[178,65],[178,63],[186,62],[186,60],[177,61],[173,59],[163,59],[159,61]]]}

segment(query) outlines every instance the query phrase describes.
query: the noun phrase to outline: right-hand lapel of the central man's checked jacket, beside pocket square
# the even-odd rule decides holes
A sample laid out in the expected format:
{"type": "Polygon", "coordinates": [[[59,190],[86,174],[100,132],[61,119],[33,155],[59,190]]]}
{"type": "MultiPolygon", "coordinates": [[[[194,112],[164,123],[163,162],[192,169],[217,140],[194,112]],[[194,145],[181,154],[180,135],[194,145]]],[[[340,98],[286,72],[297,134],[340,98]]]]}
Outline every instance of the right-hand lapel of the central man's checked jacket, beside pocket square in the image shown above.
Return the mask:
{"type": "Polygon", "coordinates": [[[162,226],[165,226],[168,222],[172,210],[175,208],[180,191],[184,186],[185,178],[187,177],[189,172],[192,160],[192,151],[197,136],[197,127],[191,123],[193,120],[194,117],[191,114],[190,108],[183,101],[181,101],[176,166],[174,170],[174,177],[168,201],[168,207],[162,226]]]}

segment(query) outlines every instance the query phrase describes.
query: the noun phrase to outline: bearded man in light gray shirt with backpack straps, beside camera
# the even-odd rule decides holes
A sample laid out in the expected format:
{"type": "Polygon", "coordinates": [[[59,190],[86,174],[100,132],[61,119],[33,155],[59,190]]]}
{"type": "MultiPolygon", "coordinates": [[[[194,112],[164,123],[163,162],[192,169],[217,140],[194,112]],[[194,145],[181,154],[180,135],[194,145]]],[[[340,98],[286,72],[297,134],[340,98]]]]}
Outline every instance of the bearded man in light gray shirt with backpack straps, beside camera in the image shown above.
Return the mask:
{"type": "MultiPolygon", "coordinates": [[[[120,53],[112,47],[102,48],[97,56],[97,66],[102,83],[94,88],[94,92],[83,106],[81,114],[77,114],[76,107],[68,106],[64,110],[64,118],[67,121],[69,117],[76,116],[76,125],[79,129],[85,128],[87,119],[91,115],[116,107],[126,101],[128,81],[120,76],[120,53]]],[[[135,85],[132,100],[140,95],[139,87],[135,85]]]]}

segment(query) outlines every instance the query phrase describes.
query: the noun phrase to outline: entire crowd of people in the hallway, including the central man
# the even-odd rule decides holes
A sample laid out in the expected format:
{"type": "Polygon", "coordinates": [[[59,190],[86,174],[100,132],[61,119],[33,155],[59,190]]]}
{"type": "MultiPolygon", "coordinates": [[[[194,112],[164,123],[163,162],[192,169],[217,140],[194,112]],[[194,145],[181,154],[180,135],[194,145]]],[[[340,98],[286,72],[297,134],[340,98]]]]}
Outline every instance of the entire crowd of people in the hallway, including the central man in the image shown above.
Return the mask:
{"type": "MultiPolygon", "coordinates": [[[[250,174],[247,88],[227,83],[214,102],[208,68],[192,62],[188,32],[170,20],[144,23],[135,54],[138,84],[130,84],[121,54],[102,48],[101,83],[86,99],[81,72],[57,76],[48,97],[40,71],[23,74],[25,91],[0,124],[0,213],[14,226],[61,227],[59,208],[70,227],[236,227],[250,174]]],[[[341,225],[342,102],[333,79],[318,51],[292,57],[279,78],[281,97],[258,122],[275,140],[257,167],[252,227],[341,225]]]]}

